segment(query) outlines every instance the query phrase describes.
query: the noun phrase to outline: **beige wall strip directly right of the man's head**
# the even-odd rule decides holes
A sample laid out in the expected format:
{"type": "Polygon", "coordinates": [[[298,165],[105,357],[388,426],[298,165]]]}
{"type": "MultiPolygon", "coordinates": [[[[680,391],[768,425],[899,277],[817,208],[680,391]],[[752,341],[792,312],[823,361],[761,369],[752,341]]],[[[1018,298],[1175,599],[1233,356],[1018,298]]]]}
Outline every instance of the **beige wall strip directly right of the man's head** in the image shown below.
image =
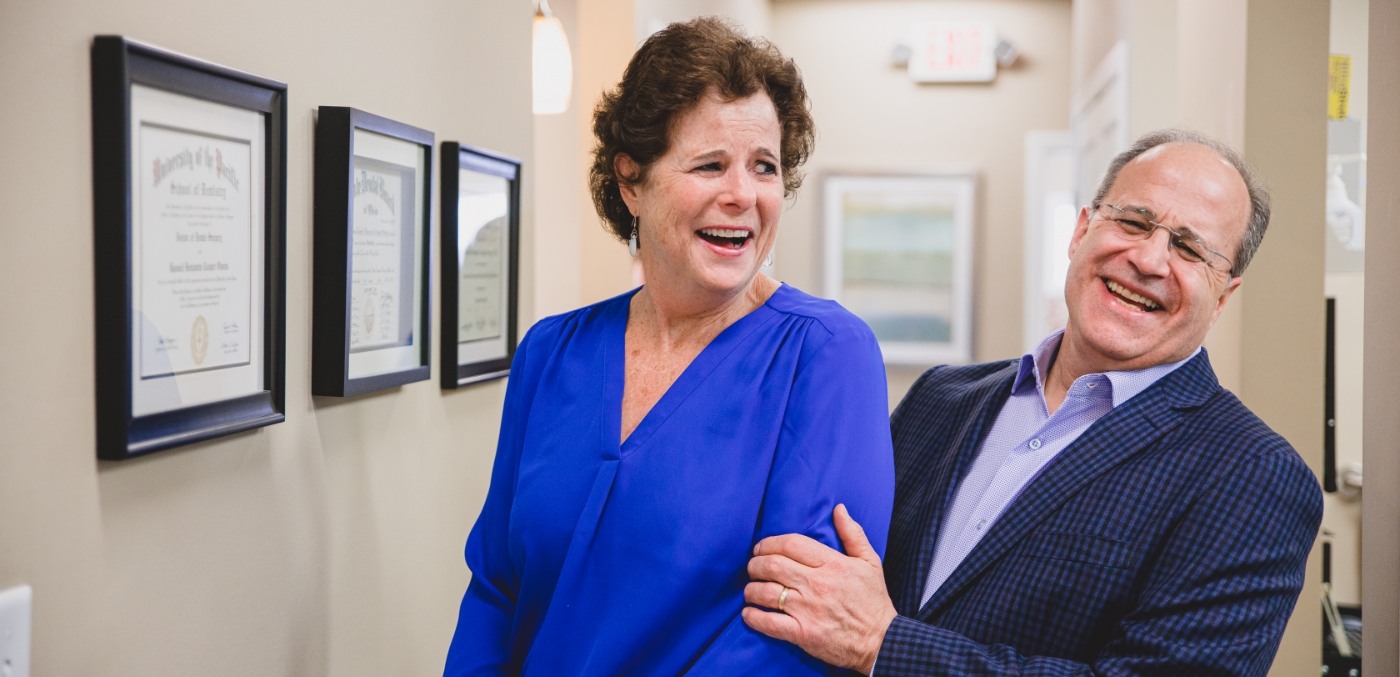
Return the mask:
{"type": "MultiPolygon", "coordinates": [[[[1245,43],[1243,147],[1268,178],[1274,217],[1247,273],[1238,393],[1320,476],[1327,4],[1250,0],[1245,43]]],[[[1320,562],[1315,548],[1274,674],[1317,674],[1320,562]]]]}

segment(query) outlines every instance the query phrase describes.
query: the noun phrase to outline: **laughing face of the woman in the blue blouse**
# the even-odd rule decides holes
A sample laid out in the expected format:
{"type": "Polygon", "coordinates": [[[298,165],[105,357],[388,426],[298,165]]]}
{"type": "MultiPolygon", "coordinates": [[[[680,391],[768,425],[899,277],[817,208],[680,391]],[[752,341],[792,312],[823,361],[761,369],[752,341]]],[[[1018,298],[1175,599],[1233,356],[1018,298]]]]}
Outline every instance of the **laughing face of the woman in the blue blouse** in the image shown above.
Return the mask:
{"type": "MultiPolygon", "coordinates": [[[[748,290],[777,238],[781,138],[762,92],[735,101],[711,92],[676,117],[647,180],[622,186],[654,294],[722,302],[748,290]]],[[[636,175],[626,155],[616,169],[636,175]]]]}

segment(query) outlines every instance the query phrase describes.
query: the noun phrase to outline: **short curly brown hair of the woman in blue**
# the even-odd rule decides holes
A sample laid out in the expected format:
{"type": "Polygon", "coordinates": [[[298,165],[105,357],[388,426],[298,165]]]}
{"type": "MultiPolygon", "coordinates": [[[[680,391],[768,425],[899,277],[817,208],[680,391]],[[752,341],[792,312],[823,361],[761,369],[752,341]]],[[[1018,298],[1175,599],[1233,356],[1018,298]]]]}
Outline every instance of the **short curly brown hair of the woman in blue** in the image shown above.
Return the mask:
{"type": "Polygon", "coordinates": [[[802,185],[799,168],[812,154],[815,126],[802,76],[791,59],[764,39],[753,39],[729,22],[703,17],[671,24],[637,49],[617,87],[594,108],[594,165],[588,185],[603,225],[627,241],[631,211],[619,182],[644,183],[652,162],[671,147],[676,117],[696,108],[708,92],[725,101],[764,92],[773,99],[783,148],[778,164],[784,197],[802,185]],[[636,176],[619,176],[613,161],[630,157],[636,176]]]}

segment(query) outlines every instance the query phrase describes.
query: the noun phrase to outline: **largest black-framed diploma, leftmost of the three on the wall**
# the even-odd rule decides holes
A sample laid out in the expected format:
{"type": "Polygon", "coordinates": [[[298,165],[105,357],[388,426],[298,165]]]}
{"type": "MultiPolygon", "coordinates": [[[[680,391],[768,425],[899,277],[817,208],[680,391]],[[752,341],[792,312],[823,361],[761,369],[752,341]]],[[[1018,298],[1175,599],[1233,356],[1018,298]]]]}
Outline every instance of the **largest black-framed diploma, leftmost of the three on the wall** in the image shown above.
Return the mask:
{"type": "Polygon", "coordinates": [[[97,455],[286,418],[287,85],[92,41],[97,455]]]}

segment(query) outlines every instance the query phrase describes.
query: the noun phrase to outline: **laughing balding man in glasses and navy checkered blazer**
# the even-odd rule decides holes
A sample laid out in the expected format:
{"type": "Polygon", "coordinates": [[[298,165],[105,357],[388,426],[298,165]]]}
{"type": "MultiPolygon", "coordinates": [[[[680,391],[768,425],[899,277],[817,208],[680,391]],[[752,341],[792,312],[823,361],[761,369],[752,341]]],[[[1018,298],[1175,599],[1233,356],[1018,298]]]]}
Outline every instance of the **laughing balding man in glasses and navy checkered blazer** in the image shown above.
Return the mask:
{"type": "Polygon", "coordinates": [[[1266,674],[1322,494],[1201,343],[1267,224],[1235,151],[1140,138],[1079,210],[1065,330],[895,411],[883,571],[839,506],[847,554],[755,547],[743,620],[867,674],[1266,674]]]}

